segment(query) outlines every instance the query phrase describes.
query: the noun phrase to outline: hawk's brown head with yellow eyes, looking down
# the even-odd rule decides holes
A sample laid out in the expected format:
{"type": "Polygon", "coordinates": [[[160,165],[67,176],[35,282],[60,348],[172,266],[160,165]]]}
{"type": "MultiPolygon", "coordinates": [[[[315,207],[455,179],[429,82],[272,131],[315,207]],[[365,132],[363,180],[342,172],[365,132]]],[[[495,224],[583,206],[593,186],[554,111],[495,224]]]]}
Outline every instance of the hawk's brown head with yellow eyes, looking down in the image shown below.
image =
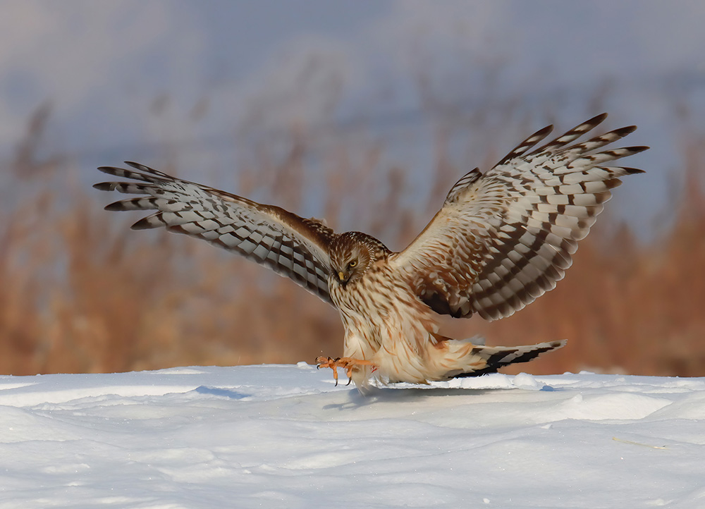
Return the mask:
{"type": "Polygon", "coordinates": [[[343,286],[355,283],[380,257],[379,240],[356,231],[342,233],[331,243],[331,280],[343,286]]]}

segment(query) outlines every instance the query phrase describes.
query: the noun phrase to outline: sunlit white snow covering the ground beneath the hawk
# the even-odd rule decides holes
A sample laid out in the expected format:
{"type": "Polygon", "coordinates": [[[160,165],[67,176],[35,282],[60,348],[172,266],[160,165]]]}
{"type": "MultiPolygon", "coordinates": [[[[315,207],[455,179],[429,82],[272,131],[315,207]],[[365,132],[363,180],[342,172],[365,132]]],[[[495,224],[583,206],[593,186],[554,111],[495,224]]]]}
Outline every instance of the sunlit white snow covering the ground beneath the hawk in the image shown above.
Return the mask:
{"type": "Polygon", "coordinates": [[[705,508],[705,379],[0,376],[0,508],[705,508]]]}

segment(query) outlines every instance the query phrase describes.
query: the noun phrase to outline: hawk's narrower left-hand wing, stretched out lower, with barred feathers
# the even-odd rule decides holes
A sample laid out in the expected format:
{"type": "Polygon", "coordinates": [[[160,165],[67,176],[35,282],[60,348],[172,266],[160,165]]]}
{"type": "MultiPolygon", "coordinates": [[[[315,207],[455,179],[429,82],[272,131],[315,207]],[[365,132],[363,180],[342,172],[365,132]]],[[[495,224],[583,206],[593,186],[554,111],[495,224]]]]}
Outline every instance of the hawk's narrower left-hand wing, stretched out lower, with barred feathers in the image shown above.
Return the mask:
{"type": "Polygon", "coordinates": [[[237,252],[331,301],[328,291],[328,245],[336,236],[317,219],[303,219],[280,207],[259,204],[229,192],[172,177],[142,164],[135,170],[103,166],[104,173],[132,182],[104,182],[93,187],[133,195],[106,210],[156,210],[132,228],[164,226],[237,252]]]}

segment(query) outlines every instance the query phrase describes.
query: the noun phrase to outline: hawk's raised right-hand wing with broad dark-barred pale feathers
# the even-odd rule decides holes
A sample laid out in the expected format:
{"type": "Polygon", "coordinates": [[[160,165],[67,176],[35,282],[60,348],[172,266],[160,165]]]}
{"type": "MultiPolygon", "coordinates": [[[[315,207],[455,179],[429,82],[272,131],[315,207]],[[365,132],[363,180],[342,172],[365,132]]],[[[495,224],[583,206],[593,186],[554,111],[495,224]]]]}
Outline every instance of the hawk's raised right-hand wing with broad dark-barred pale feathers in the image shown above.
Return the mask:
{"type": "Polygon", "coordinates": [[[541,129],[484,175],[476,168],[458,180],[424,231],[393,257],[419,298],[441,314],[498,319],[553,289],[620,177],[643,173],[609,165],[648,147],[594,153],[635,126],[570,145],[606,116],[527,153],[553,126],[541,129]]]}

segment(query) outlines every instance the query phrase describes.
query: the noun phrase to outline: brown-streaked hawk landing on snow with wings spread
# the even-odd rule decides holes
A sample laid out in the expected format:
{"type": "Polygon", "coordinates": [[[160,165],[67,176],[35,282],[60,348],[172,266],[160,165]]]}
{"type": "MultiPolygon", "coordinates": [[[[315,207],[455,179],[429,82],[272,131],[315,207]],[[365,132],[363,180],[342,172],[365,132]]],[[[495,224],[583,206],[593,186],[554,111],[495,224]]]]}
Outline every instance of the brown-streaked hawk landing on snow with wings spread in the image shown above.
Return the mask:
{"type": "Polygon", "coordinates": [[[130,181],[94,188],[140,195],[105,207],[154,210],[135,230],[164,227],[202,238],[269,266],[336,307],[345,326],[343,357],[317,358],[319,367],[333,369],[336,384],[337,369],[361,389],[370,379],[424,384],[496,372],[565,344],[488,347],[441,336],[439,318],[508,317],[563,278],[610,190],[621,177],[643,173],[612,164],[648,147],[603,149],[633,125],[576,142],[606,116],[534,148],[551,133],[549,125],[486,173],[466,173],[400,252],[366,233],[335,233],[323,221],[142,164],[101,167],[130,181]]]}

